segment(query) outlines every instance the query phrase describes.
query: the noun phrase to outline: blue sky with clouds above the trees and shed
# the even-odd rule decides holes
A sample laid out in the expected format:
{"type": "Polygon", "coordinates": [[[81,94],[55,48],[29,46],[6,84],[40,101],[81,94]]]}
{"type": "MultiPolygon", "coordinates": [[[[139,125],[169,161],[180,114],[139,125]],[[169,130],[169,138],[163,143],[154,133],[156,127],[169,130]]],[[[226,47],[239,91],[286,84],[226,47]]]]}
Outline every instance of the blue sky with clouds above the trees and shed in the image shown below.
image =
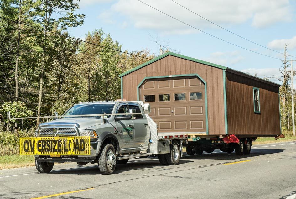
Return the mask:
{"type": "MultiPolygon", "coordinates": [[[[244,48],[283,59],[283,55],[241,39],[171,0],[142,0],[196,28],[244,48]]],[[[184,7],[260,45],[296,57],[295,1],[288,0],[175,0],[184,7]]],[[[69,33],[84,39],[88,31],[102,28],[122,44],[122,50],[149,48],[159,54],[155,38],[180,54],[227,67],[257,73],[259,77],[278,74],[282,62],[257,55],[215,39],[137,0],[80,0],[76,13],[86,14],[83,26],[69,28],[69,33]]],[[[294,58],[296,60],[296,58],[294,58]]],[[[296,61],[295,61],[296,67],[296,61]]],[[[271,79],[272,80],[272,79],[271,79]]],[[[276,81],[276,80],[272,80],[276,81]]],[[[276,81],[277,82],[277,81],[276,81]]]]}

